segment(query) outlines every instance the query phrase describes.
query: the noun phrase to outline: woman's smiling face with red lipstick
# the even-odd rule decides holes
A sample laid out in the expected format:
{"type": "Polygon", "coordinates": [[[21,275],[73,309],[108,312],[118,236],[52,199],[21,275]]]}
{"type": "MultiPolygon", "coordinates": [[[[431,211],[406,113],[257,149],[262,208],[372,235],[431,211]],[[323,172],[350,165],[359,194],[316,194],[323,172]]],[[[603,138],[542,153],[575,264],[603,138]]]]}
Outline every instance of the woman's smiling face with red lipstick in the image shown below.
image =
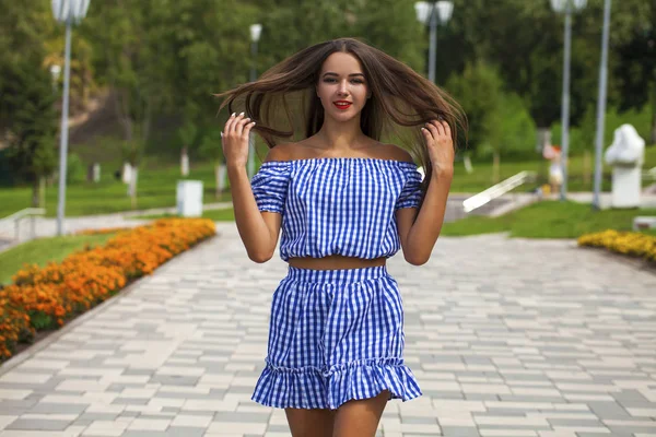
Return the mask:
{"type": "Polygon", "coordinates": [[[326,116],[345,121],[360,114],[368,85],[358,58],[340,51],[330,55],[321,67],[317,95],[326,116]]]}

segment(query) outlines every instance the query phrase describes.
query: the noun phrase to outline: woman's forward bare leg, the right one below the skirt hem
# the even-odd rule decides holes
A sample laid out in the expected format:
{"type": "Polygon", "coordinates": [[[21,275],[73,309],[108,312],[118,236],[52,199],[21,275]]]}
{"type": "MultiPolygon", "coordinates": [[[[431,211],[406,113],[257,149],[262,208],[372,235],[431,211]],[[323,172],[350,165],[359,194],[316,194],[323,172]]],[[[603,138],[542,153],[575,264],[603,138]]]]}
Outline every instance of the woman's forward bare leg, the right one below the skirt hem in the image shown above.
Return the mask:
{"type": "Polygon", "coordinates": [[[374,437],[388,399],[389,392],[385,390],[375,398],[341,405],[335,415],[332,437],[374,437]]]}

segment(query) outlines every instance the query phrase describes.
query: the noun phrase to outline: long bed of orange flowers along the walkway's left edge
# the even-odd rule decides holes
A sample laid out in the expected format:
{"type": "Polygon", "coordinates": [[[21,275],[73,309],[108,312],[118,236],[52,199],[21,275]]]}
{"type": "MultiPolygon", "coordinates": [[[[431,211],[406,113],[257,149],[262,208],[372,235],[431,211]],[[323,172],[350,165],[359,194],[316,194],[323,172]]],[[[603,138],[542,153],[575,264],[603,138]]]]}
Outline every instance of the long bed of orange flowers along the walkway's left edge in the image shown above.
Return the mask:
{"type": "Polygon", "coordinates": [[[214,234],[214,222],[208,218],[162,218],[59,263],[26,265],[12,277],[13,284],[0,290],[0,361],[36,331],[63,326],[214,234]]]}

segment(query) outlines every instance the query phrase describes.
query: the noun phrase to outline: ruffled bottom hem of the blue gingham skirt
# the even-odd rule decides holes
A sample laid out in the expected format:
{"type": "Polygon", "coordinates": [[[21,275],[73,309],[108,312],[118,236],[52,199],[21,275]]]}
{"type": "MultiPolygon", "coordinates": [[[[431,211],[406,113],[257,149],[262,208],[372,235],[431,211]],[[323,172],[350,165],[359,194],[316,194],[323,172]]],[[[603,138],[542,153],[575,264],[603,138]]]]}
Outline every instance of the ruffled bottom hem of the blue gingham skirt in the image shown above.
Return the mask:
{"type": "Polygon", "coordinates": [[[403,402],[421,395],[417,379],[401,358],[378,358],[318,367],[277,367],[267,364],[251,399],[278,409],[336,410],[351,400],[382,391],[403,402]]]}

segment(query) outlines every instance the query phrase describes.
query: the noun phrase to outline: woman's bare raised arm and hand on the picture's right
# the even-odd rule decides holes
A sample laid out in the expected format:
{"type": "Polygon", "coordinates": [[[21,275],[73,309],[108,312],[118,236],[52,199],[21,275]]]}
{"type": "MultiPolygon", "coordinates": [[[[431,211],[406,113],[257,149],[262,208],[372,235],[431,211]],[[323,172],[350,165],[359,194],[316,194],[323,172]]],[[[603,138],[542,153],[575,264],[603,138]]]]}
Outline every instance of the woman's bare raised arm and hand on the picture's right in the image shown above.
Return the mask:
{"type": "Polygon", "coordinates": [[[396,212],[403,257],[414,265],[429,261],[437,241],[450,182],[454,177],[454,146],[446,121],[433,120],[422,128],[433,174],[421,209],[403,208],[396,212]]]}

